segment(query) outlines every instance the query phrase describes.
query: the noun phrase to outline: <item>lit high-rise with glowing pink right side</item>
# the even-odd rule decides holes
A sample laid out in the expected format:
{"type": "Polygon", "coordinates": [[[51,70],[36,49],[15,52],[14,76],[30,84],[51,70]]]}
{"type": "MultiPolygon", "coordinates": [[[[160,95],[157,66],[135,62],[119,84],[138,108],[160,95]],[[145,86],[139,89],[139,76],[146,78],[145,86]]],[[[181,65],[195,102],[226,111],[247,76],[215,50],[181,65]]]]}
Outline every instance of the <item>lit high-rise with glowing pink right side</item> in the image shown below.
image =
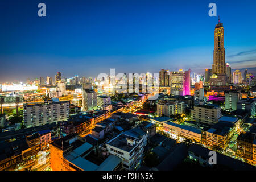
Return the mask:
{"type": "Polygon", "coordinates": [[[172,95],[190,95],[190,72],[180,69],[178,72],[170,72],[170,87],[172,95]]]}

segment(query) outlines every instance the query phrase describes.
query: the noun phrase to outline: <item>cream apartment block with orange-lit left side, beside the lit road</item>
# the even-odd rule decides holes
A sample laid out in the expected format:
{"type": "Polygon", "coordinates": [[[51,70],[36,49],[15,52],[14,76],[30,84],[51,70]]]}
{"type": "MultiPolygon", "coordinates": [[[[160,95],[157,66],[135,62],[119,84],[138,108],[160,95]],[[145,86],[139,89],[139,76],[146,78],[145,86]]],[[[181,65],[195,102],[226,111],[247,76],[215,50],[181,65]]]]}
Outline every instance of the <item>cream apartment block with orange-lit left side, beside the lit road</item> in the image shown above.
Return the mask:
{"type": "Polygon", "coordinates": [[[183,101],[160,100],[156,107],[158,117],[170,117],[171,115],[185,113],[185,102],[183,101]]]}

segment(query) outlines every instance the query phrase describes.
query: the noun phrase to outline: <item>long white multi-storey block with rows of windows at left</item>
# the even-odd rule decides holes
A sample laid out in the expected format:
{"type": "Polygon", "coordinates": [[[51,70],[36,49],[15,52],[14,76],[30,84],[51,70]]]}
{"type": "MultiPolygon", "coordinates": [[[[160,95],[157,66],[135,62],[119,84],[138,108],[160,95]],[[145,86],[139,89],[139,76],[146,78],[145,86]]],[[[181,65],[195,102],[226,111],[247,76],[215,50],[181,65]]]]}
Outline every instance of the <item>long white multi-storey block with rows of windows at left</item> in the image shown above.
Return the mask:
{"type": "Polygon", "coordinates": [[[27,127],[65,121],[69,118],[69,102],[49,101],[44,104],[24,105],[23,113],[24,125],[27,127]]]}

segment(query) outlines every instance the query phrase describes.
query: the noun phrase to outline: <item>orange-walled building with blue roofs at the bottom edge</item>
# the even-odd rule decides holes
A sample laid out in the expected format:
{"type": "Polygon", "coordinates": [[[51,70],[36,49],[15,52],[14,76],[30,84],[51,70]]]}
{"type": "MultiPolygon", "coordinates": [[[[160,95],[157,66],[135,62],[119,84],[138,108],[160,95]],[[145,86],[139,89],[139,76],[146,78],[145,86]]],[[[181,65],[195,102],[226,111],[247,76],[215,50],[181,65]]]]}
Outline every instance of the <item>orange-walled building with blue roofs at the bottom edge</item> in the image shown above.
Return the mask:
{"type": "Polygon", "coordinates": [[[94,146],[76,134],[55,140],[50,146],[53,171],[115,171],[122,168],[122,160],[115,155],[95,160],[94,146]]]}

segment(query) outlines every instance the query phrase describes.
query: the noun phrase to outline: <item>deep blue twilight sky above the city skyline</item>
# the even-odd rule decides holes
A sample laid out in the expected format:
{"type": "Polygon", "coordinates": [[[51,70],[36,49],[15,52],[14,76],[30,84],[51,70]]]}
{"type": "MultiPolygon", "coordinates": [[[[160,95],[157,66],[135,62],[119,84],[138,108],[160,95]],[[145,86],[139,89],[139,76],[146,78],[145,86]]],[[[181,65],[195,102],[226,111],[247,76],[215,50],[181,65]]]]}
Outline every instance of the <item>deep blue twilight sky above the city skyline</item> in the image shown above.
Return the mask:
{"type": "Polygon", "coordinates": [[[226,62],[256,67],[256,1],[1,0],[0,81],[98,73],[204,73],[213,63],[209,3],[224,23],[226,62]],[[46,3],[46,17],[38,4],[46,3]]]}

